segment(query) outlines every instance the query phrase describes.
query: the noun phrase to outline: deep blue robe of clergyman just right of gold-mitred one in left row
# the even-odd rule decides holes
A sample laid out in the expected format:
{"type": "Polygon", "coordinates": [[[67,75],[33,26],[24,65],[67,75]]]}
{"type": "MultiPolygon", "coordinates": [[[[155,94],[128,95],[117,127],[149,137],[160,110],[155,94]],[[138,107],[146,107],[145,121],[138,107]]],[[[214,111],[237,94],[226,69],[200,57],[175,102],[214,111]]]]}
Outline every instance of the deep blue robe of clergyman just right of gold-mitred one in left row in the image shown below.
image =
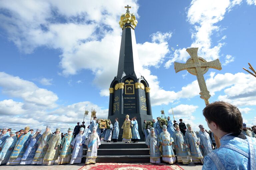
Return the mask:
{"type": "MultiPolygon", "coordinates": [[[[36,135],[36,134],[35,134],[36,135]]],[[[34,159],[34,156],[36,154],[36,150],[38,147],[37,141],[38,139],[41,137],[42,135],[39,134],[38,136],[35,137],[31,137],[30,138],[30,142],[29,145],[25,151],[25,153],[23,154],[21,160],[30,160],[30,159],[34,159]]]]}

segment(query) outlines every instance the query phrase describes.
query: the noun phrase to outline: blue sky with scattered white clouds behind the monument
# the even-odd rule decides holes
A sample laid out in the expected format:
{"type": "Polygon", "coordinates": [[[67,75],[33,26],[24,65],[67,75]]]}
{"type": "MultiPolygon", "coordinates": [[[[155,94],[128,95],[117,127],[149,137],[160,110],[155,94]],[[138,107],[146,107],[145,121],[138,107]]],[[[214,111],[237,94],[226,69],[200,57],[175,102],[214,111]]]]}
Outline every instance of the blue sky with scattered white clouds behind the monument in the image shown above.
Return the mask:
{"type": "Polygon", "coordinates": [[[196,77],[173,66],[198,47],[198,56],[222,64],[204,75],[210,102],[229,101],[256,124],[256,79],[242,69],[256,68],[255,0],[112,0],[1,2],[0,126],[66,131],[92,107],[106,117],[127,4],[138,20],[136,67],[151,87],[154,118],[172,107],[176,120],[207,126],[196,77]]]}

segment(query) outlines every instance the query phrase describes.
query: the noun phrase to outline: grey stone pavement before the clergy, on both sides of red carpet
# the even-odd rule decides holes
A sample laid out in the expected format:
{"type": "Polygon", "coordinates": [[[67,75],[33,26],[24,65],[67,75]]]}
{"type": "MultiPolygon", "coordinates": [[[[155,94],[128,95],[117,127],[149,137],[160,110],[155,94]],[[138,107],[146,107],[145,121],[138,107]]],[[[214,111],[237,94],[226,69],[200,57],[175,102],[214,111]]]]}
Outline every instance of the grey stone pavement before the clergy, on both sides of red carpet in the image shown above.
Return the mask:
{"type": "MultiPolygon", "coordinates": [[[[202,165],[195,166],[194,163],[190,163],[189,165],[180,165],[177,164],[184,170],[201,170],[202,165]]],[[[0,170],[78,170],[84,163],[81,164],[66,164],[66,165],[58,165],[55,163],[51,166],[46,165],[0,165],[0,170]]]]}

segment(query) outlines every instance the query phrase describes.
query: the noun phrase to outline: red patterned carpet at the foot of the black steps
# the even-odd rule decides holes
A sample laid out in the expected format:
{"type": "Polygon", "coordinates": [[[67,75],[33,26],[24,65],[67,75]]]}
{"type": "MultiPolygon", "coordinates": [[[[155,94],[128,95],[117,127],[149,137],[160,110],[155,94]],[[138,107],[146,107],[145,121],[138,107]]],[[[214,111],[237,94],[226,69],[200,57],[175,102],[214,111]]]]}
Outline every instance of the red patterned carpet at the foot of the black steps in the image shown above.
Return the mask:
{"type": "Polygon", "coordinates": [[[96,163],[85,165],[79,170],[184,170],[180,166],[150,163],[96,163]]]}

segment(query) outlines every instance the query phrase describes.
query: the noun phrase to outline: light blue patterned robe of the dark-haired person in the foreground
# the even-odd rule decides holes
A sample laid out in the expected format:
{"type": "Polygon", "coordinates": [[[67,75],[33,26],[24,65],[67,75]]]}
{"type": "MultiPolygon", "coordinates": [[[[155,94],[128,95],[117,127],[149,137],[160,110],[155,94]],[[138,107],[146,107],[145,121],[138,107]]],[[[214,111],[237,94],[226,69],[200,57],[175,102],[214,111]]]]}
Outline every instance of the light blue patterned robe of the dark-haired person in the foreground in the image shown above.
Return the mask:
{"type": "Polygon", "coordinates": [[[248,136],[246,138],[231,135],[222,137],[220,148],[204,157],[202,170],[255,170],[256,139],[248,136]]]}

